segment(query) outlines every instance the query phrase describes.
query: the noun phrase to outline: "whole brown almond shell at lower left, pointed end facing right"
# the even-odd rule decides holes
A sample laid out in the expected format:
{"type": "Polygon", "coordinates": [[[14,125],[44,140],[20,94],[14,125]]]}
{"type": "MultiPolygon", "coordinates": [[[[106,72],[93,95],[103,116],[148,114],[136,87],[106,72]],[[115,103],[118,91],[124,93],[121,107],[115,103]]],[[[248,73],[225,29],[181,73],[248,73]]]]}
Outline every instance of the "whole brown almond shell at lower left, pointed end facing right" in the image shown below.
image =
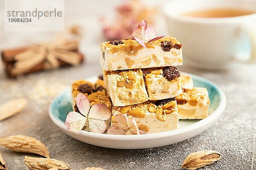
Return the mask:
{"type": "Polygon", "coordinates": [[[36,153],[47,158],[50,157],[43,143],[28,136],[15,135],[3,137],[0,138],[0,145],[16,152],[36,153]]]}

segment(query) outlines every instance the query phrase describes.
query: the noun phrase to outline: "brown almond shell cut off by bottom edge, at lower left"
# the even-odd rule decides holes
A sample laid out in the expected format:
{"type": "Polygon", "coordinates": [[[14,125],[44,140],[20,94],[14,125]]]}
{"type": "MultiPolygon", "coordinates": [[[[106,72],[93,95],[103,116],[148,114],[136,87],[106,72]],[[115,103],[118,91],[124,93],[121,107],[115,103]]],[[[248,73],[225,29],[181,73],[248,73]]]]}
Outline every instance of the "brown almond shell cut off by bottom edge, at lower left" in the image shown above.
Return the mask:
{"type": "Polygon", "coordinates": [[[71,168],[69,164],[63,161],[50,158],[35,158],[25,156],[24,162],[30,170],[49,170],[51,168],[57,168],[58,170],[70,170],[71,168]]]}

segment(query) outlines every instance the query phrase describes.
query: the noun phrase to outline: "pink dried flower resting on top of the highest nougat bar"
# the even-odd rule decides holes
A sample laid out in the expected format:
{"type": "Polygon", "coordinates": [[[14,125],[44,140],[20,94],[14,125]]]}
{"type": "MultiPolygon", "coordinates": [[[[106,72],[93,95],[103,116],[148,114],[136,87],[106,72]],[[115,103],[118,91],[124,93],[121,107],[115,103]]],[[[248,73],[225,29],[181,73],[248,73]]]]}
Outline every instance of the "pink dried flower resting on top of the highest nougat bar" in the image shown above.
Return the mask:
{"type": "Polygon", "coordinates": [[[134,28],[132,37],[143,47],[145,43],[152,42],[163,38],[164,36],[157,37],[156,29],[153,26],[148,26],[147,21],[142,20],[137,27],[134,28]]]}

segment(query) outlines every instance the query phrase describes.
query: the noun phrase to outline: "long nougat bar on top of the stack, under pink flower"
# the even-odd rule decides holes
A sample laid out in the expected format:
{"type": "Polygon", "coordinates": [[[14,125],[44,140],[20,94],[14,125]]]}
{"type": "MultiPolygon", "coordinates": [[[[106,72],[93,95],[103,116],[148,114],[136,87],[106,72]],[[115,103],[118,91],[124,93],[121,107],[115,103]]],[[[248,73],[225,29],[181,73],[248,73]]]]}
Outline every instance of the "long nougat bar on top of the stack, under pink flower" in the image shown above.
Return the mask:
{"type": "Polygon", "coordinates": [[[183,64],[182,45],[170,36],[149,42],[146,48],[133,39],[107,41],[100,46],[100,63],[106,71],[183,64]]]}

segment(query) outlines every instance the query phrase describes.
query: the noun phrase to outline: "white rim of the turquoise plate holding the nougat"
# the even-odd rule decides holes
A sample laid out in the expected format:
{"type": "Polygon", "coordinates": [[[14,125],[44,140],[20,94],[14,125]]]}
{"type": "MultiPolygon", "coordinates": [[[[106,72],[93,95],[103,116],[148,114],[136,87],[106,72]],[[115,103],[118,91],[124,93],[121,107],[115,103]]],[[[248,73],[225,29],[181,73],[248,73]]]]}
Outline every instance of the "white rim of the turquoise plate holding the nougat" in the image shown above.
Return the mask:
{"type": "MultiPolygon", "coordinates": [[[[214,112],[212,112],[208,117],[201,119],[200,121],[195,122],[192,125],[188,125],[186,127],[180,128],[180,129],[169,130],[169,131],[159,132],[159,133],[143,134],[143,135],[111,135],[111,134],[93,133],[93,132],[88,132],[85,130],[80,130],[79,132],[73,132],[71,130],[68,130],[63,122],[61,122],[59,119],[56,119],[52,115],[51,107],[52,107],[52,102],[55,98],[52,100],[52,102],[49,105],[49,109],[48,109],[49,116],[52,119],[52,122],[55,123],[55,125],[57,125],[58,127],[60,127],[61,129],[65,130],[65,131],[68,131],[70,133],[80,134],[80,135],[87,136],[87,137],[93,137],[93,138],[97,138],[97,139],[138,140],[138,141],[140,141],[140,140],[147,140],[147,139],[149,140],[149,139],[157,139],[157,138],[164,138],[164,137],[172,137],[177,134],[192,132],[199,127],[208,125],[210,122],[212,122],[212,119],[218,119],[218,117],[221,115],[221,113],[224,111],[224,109],[226,107],[227,99],[226,99],[224,92],[213,82],[211,82],[203,77],[194,75],[194,74],[189,74],[189,73],[185,73],[185,72],[184,72],[184,74],[187,74],[191,77],[197,77],[198,79],[203,79],[205,82],[208,82],[208,83],[214,85],[215,88],[220,92],[220,104],[218,105],[218,108],[214,112]]],[[[90,77],[90,78],[92,78],[92,77],[90,77]]],[[[87,79],[90,79],[90,78],[87,78],[87,79]]],[[[215,120],[213,122],[215,122],[215,120]]]]}

